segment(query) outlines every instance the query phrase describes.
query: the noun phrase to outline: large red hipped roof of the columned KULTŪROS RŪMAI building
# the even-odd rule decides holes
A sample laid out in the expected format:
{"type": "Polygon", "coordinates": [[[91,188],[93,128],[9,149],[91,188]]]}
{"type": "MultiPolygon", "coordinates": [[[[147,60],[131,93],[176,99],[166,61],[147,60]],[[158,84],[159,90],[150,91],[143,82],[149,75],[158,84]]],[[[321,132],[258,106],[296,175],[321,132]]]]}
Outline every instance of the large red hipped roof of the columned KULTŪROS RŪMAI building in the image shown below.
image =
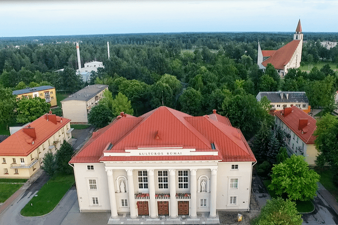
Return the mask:
{"type": "Polygon", "coordinates": [[[191,160],[256,162],[241,131],[232,127],[226,117],[216,114],[216,110],[209,116],[193,117],[161,106],[137,118],[122,116],[100,129],[70,163],[191,160]],[[123,155],[126,149],[173,147],[218,155],[123,155]],[[107,156],[109,153],[113,156],[107,156]]]}

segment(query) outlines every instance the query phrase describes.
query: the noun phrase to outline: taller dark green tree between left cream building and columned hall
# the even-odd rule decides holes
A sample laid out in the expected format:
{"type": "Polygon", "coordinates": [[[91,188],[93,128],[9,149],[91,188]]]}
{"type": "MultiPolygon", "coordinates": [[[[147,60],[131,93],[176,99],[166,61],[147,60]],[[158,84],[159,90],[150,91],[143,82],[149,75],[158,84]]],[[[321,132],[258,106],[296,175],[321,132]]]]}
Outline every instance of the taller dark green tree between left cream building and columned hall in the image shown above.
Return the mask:
{"type": "Polygon", "coordinates": [[[55,163],[57,170],[62,174],[71,174],[73,173],[73,168],[68,164],[72,159],[74,153],[74,148],[64,140],[60,149],[55,153],[55,163]]]}

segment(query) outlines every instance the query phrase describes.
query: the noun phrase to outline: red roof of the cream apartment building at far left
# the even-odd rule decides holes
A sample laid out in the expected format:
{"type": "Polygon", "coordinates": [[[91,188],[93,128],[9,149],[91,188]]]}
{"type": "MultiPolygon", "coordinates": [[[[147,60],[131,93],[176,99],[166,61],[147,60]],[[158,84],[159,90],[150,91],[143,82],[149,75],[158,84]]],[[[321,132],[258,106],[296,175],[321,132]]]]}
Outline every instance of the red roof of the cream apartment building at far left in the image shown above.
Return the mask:
{"type": "MultiPolygon", "coordinates": [[[[49,116],[51,115],[49,114],[49,116]]],[[[25,128],[13,133],[5,141],[0,143],[0,155],[27,156],[32,153],[34,149],[48,140],[59,129],[71,121],[70,119],[58,117],[55,115],[52,116],[53,118],[56,117],[56,121],[55,118],[54,121],[47,120],[47,114],[45,114],[44,116],[41,116],[40,118],[25,126],[25,128],[28,126],[35,128],[36,139],[29,136],[27,132],[24,132],[25,128]],[[34,144],[31,144],[32,141],[34,141],[34,144]]]]}

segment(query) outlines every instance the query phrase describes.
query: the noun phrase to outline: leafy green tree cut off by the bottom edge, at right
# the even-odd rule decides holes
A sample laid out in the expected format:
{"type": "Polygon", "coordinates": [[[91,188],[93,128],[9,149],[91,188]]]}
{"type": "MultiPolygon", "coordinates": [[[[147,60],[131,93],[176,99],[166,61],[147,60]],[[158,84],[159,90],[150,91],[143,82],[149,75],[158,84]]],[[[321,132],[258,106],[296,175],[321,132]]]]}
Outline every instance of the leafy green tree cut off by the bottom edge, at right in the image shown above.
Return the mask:
{"type": "Polygon", "coordinates": [[[251,220],[254,225],[302,225],[302,215],[298,213],[295,202],[283,198],[272,198],[266,201],[261,214],[251,220]]]}

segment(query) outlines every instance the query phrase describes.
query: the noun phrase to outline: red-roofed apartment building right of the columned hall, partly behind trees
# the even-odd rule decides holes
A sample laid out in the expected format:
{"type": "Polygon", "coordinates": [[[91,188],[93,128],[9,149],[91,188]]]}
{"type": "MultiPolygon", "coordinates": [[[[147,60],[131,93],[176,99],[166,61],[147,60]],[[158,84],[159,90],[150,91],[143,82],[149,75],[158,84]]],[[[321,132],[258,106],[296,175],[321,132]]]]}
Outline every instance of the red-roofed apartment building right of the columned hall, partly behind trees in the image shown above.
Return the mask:
{"type": "Polygon", "coordinates": [[[276,126],[289,134],[287,150],[289,154],[304,155],[309,165],[314,161],[318,151],[314,146],[316,120],[307,115],[302,109],[292,106],[274,113],[276,126]]]}

